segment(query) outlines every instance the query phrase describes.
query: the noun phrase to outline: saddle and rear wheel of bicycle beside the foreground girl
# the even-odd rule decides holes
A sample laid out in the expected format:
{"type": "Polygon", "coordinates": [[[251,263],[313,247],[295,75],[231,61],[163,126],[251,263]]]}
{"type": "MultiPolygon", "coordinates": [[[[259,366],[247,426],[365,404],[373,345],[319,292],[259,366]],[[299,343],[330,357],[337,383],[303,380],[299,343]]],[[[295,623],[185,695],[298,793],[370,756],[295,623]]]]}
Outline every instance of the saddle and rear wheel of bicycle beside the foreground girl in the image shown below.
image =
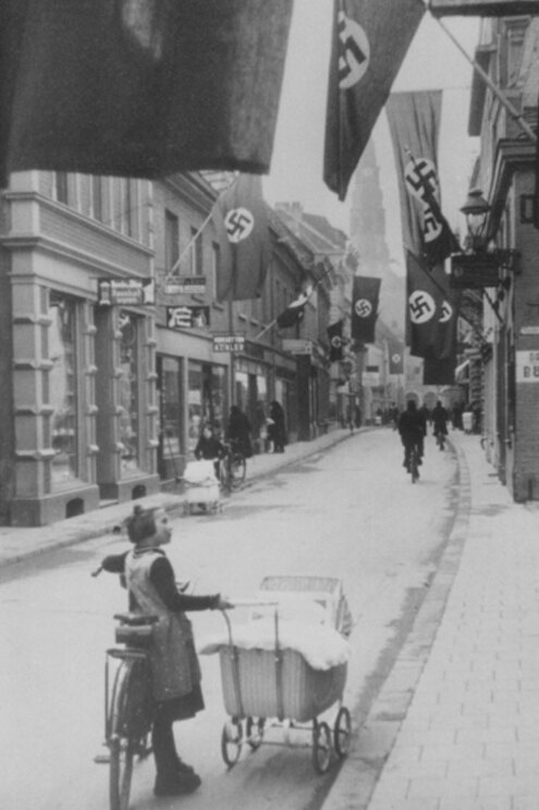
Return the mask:
{"type": "Polygon", "coordinates": [[[127,810],[135,757],[151,753],[154,720],[149,646],[157,616],[115,614],[117,643],[105,665],[105,738],[109,748],[110,810],[127,810]]]}

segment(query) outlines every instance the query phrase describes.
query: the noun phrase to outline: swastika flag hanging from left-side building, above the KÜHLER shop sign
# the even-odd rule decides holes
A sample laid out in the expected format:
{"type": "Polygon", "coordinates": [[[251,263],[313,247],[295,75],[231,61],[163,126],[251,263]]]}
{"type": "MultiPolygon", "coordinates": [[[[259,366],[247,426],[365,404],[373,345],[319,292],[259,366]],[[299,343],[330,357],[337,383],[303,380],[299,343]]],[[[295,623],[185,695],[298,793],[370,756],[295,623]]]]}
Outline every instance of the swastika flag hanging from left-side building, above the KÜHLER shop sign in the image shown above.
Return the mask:
{"type": "Polygon", "coordinates": [[[217,298],[245,301],[260,295],[271,258],[262,181],[240,174],[213,206],[219,237],[217,298]]]}

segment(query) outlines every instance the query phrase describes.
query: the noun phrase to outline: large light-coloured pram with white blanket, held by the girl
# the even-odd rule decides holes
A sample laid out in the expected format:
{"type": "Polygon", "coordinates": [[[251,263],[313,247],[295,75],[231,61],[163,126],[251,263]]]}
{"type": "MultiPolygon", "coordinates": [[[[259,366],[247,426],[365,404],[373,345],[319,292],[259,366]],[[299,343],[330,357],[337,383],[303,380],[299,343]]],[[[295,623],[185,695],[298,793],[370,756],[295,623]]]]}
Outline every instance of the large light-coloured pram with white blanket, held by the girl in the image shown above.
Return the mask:
{"type": "Polygon", "coordinates": [[[245,604],[250,606],[249,621],[233,632],[224,614],[228,638],[200,650],[220,656],[230,715],[221,736],[223,760],[232,767],[244,742],[253,750],[266,741],[290,745],[289,730],[294,728],[310,735],[314,767],[324,773],[333,751],[346,755],[351,737],[343,692],[350,655],[345,637],[352,621],[341,582],[329,577],[267,577],[257,599],[245,604]],[[309,636],[319,642],[310,650],[309,636]],[[335,704],[332,724],[321,721],[335,704]],[[285,729],[284,742],[265,740],[272,727],[285,729]]]}

